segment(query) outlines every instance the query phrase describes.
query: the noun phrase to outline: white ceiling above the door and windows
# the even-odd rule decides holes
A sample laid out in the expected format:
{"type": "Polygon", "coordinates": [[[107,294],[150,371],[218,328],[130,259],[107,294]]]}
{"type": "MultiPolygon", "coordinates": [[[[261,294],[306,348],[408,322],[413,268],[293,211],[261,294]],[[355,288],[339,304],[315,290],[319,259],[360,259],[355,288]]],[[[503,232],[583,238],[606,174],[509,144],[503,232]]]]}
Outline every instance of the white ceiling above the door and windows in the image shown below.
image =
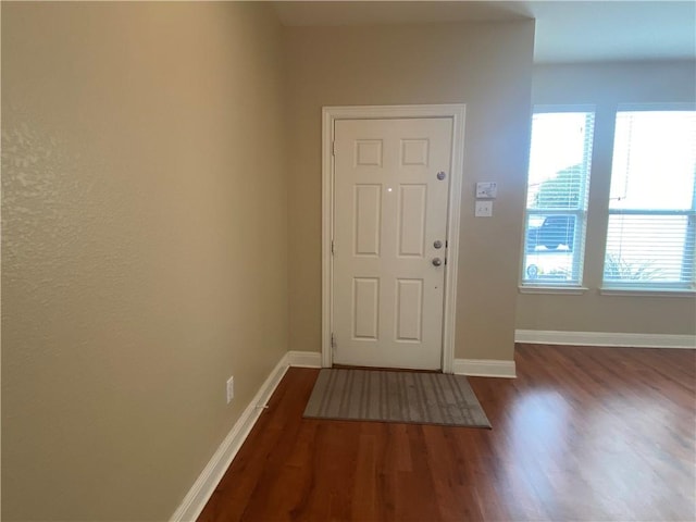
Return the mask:
{"type": "Polygon", "coordinates": [[[696,1],[274,2],[284,25],[535,18],[537,63],[696,58],[696,1]]]}

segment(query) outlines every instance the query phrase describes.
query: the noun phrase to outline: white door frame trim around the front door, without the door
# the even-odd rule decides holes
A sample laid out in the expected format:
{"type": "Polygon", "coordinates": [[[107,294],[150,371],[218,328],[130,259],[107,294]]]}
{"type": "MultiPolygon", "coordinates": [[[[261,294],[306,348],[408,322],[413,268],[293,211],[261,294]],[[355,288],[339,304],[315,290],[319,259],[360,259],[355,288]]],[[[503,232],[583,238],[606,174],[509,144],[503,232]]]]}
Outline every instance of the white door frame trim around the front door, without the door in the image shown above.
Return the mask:
{"type": "Polygon", "coordinates": [[[338,120],[388,120],[449,117],[452,120],[451,172],[447,212],[447,266],[443,309],[442,370],[453,373],[459,222],[464,159],[464,103],[426,105],[351,105],[322,108],[322,366],[333,363],[333,257],[335,122],[338,120]]]}

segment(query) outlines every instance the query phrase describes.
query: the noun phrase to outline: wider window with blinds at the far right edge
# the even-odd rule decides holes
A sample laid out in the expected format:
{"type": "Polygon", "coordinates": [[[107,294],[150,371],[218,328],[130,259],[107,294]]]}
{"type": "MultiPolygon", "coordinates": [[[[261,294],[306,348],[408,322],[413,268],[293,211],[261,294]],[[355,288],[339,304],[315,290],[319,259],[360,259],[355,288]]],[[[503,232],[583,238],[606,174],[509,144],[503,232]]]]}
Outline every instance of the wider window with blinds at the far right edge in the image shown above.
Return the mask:
{"type": "Polygon", "coordinates": [[[694,289],[696,111],[617,112],[607,288],[694,289]]]}

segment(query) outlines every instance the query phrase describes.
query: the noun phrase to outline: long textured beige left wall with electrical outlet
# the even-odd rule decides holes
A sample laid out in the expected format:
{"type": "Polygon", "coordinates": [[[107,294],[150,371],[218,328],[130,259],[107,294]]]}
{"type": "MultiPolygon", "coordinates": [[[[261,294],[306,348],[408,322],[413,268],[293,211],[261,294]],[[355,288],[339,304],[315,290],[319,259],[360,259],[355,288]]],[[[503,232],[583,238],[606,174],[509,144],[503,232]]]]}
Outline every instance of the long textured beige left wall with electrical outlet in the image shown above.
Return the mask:
{"type": "Polygon", "coordinates": [[[286,351],[281,36],[2,3],[3,520],[169,519],[286,351]]]}

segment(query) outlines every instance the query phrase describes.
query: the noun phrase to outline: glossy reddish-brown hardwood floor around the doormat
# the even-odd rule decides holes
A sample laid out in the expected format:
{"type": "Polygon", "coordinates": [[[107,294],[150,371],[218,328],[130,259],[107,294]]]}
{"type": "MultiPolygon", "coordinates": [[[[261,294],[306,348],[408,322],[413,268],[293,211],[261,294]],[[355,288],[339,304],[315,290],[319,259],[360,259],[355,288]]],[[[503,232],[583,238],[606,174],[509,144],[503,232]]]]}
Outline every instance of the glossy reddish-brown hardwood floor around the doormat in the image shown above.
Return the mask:
{"type": "Polygon", "coordinates": [[[471,377],[493,430],[302,419],[289,369],[210,521],[696,520],[693,350],[518,345],[471,377]]]}

